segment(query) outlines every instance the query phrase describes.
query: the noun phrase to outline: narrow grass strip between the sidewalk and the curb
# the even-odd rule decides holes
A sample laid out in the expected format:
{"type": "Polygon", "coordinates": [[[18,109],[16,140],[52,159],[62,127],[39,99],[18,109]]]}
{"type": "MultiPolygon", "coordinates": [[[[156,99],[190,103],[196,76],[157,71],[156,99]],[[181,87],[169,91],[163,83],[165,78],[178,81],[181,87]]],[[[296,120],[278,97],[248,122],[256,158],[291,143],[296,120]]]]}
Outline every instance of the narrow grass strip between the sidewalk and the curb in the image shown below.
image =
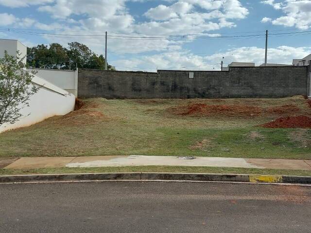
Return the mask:
{"type": "Polygon", "coordinates": [[[216,174],[260,174],[311,176],[308,170],[280,170],[231,167],[191,167],[191,166],[123,166],[96,168],[39,168],[0,169],[0,175],[65,174],[65,173],[116,173],[116,172],[173,172],[173,173],[216,173],[216,174]]]}

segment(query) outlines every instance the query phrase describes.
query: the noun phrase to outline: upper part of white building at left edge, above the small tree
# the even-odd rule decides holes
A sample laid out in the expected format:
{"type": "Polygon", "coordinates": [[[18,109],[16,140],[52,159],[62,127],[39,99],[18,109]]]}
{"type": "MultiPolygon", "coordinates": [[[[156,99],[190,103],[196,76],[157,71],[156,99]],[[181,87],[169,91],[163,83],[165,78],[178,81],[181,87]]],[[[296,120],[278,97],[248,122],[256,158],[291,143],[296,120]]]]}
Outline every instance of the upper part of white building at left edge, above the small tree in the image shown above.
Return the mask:
{"type": "MultiPolygon", "coordinates": [[[[21,53],[20,58],[27,54],[27,47],[17,40],[0,39],[0,57],[3,57],[4,51],[7,51],[10,55],[16,56],[17,51],[21,53]]],[[[23,63],[26,65],[26,57],[23,59],[23,63]]]]}

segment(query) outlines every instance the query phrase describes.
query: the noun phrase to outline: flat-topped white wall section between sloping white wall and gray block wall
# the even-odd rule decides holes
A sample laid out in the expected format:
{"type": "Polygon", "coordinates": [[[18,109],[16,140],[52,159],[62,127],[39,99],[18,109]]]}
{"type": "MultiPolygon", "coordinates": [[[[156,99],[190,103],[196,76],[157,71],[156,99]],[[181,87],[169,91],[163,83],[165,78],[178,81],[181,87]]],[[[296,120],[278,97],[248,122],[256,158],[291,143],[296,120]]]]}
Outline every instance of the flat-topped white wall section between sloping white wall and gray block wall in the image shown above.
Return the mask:
{"type": "Polygon", "coordinates": [[[36,75],[47,80],[54,85],[65,89],[69,93],[78,96],[78,72],[73,70],[59,69],[38,69],[32,68],[27,70],[36,71],[36,75]]]}

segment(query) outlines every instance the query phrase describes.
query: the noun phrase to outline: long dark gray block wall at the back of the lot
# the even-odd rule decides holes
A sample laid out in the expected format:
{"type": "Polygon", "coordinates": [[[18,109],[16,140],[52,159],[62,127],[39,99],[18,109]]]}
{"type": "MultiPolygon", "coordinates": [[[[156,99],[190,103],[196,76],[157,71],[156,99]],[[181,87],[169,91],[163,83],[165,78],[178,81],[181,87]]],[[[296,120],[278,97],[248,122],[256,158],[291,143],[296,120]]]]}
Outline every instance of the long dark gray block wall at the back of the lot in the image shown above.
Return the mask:
{"type": "Polygon", "coordinates": [[[230,67],[157,73],[79,69],[78,96],[106,99],[280,98],[307,96],[308,67],[230,67]],[[193,79],[189,72],[194,73],[193,79]]]}

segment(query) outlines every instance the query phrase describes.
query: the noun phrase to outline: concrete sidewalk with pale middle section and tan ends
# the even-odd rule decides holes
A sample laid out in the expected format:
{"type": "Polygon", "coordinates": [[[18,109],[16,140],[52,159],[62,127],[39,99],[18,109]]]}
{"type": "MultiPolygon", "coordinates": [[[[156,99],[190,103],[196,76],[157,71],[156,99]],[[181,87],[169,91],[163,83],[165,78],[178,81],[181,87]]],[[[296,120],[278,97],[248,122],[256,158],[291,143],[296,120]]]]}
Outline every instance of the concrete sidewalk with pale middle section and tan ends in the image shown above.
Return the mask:
{"type": "MultiPolygon", "coordinates": [[[[0,164],[1,160],[0,159],[0,164]]],[[[6,159],[7,161],[8,159],[6,159]]],[[[83,156],[83,157],[24,157],[5,166],[5,169],[31,169],[48,167],[101,167],[101,166],[214,166],[241,168],[269,168],[311,170],[311,160],[294,159],[243,159],[195,157],[182,159],[176,156],[83,156]]]]}

